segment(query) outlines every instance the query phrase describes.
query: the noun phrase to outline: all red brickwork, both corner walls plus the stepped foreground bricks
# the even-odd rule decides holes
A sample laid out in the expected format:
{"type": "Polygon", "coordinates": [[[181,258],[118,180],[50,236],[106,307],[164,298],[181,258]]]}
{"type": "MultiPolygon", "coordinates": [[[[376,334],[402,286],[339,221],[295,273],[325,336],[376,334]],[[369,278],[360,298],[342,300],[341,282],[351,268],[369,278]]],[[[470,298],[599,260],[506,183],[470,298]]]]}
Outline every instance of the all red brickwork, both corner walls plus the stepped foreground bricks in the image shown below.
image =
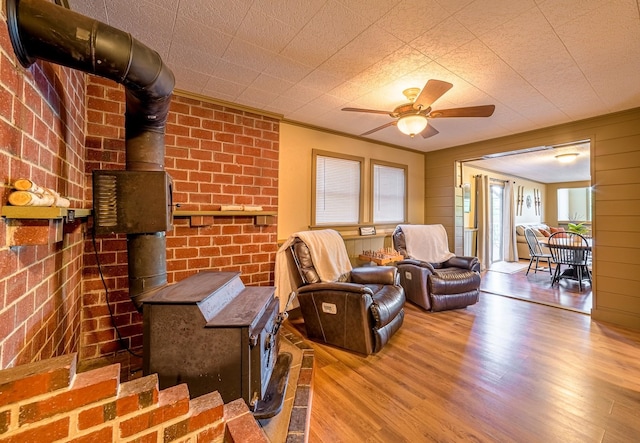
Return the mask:
{"type": "MultiPolygon", "coordinates": [[[[124,168],[123,125],[122,87],[44,62],[24,69],[0,26],[0,205],[24,177],[74,208],[91,207],[91,171],[124,168]]],[[[182,209],[277,209],[277,120],[176,97],[166,139],[182,209]]],[[[61,242],[8,247],[9,223],[0,217],[0,368],[9,368],[0,371],[0,443],[266,441],[241,399],[223,406],[217,392],[189,399],[186,385],[159,391],[155,375],[120,384],[120,365],[76,374],[77,352],[92,358],[121,348],[90,225],[67,223],[61,242]]],[[[103,237],[96,245],[115,322],[127,345],[140,347],[126,239],[103,237]]],[[[177,219],[168,233],[169,281],[219,269],[240,271],[245,284],[270,285],[276,247],[276,226],[256,227],[251,217],[198,227],[177,219]]]]}

